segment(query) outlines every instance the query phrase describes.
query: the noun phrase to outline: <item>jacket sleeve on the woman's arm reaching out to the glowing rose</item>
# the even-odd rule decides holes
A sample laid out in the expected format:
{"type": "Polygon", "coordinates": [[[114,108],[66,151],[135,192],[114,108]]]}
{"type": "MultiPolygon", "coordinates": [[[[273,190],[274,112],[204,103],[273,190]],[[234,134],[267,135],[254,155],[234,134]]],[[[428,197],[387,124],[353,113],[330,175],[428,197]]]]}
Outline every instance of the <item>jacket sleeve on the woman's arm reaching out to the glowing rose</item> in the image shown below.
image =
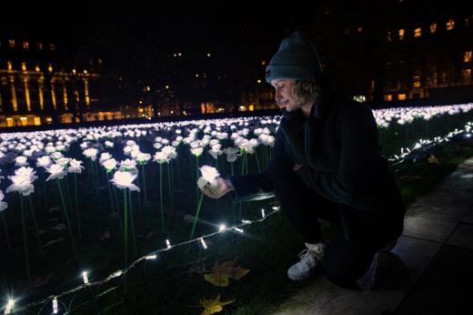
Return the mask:
{"type": "Polygon", "coordinates": [[[233,202],[242,202],[274,197],[274,182],[278,174],[290,171],[293,165],[294,163],[287,157],[285,137],[278,129],[267,170],[260,174],[230,177],[234,188],[234,191],[230,193],[230,198],[233,202]]]}

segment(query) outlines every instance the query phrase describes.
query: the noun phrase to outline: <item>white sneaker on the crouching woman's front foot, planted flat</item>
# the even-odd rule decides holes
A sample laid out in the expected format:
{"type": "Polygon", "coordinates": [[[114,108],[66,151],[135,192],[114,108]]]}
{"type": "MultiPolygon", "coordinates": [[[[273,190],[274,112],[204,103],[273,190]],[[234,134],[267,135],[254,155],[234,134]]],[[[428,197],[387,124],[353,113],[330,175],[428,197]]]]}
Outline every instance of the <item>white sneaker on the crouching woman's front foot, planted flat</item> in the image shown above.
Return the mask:
{"type": "Polygon", "coordinates": [[[322,259],[326,244],[306,243],[306,248],[299,253],[300,261],[287,269],[287,277],[294,281],[302,281],[310,278],[315,271],[322,268],[322,259]]]}

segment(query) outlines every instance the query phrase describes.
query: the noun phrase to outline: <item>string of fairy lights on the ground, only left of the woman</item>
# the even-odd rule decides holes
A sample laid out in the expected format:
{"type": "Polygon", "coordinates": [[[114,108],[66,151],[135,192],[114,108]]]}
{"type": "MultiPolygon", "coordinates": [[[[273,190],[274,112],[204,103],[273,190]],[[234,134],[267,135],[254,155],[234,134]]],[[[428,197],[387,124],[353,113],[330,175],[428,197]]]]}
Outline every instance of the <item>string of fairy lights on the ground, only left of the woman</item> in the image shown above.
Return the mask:
{"type": "Polygon", "coordinates": [[[218,226],[218,229],[215,232],[200,236],[196,239],[189,239],[189,240],[186,240],[186,241],[183,241],[183,242],[180,242],[180,243],[176,243],[176,244],[171,244],[170,240],[166,239],[166,241],[165,241],[166,242],[166,248],[156,249],[154,251],[151,251],[151,252],[147,253],[145,256],[142,256],[142,257],[136,259],[135,261],[133,261],[125,269],[118,269],[118,270],[114,271],[108,277],[106,277],[106,279],[90,281],[88,279],[88,272],[87,271],[82,271],[83,283],[81,285],[71,289],[71,290],[66,290],[66,291],[58,293],[58,294],[50,295],[50,296],[48,296],[48,297],[46,297],[45,299],[42,299],[42,300],[36,300],[36,301],[31,302],[31,303],[29,303],[25,306],[22,306],[21,308],[15,308],[15,300],[14,299],[9,299],[8,302],[5,305],[4,314],[13,314],[14,310],[15,310],[15,312],[19,313],[19,312],[21,312],[23,310],[27,310],[31,307],[35,307],[35,306],[38,306],[38,305],[48,303],[49,301],[51,301],[51,307],[52,307],[52,310],[53,310],[53,314],[57,314],[57,312],[59,310],[58,309],[58,299],[62,298],[65,295],[75,293],[76,291],[83,290],[85,288],[92,288],[92,287],[96,287],[96,286],[101,286],[104,283],[110,281],[111,279],[116,279],[118,277],[125,277],[126,273],[129,270],[134,269],[136,267],[136,265],[138,265],[141,261],[155,260],[155,259],[158,258],[158,255],[160,253],[168,251],[170,249],[176,249],[177,247],[181,247],[181,246],[185,246],[185,245],[189,245],[189,244],[193,244],[193,243],[198,244],[203,249],[208,249],[206,239],[212,238],[213,236],[215,236],[217,234],[220,234],[220,233],[224,233],[226,231],[235,231],[239,234],[244,234],[245,233],[245,230],[244,230],[245,227],[247,227],[251,224],[254,224],[254,223],[262,222],[265,219],[270,218],[271,216],[276,214],[279,210],[280,210],[280,208],[275,206],[275,207],[272,207],[272,211],[267,213],[266,212],[267,210],[265,208],[261,208],[261,218],[256,218],[256,219],[253,219],[253,220],[243,219],[240,224],[234,225],[234,226],[231,226],[231,227],[226,227],[225,224],[220,224],[218,226]]]}

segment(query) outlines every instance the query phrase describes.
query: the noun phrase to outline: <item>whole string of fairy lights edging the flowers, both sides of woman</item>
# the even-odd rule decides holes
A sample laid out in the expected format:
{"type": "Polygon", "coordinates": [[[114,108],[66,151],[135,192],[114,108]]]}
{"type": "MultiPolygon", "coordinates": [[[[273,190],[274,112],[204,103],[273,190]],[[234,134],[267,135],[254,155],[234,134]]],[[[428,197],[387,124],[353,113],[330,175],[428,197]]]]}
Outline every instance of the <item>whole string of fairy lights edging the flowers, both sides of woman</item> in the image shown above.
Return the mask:
{"type": "MultiPolygon", "coordinates": [[[[403,148],[401,148],[401,153],[399,155],[394,155],[393,158],[388,158],[388,160],[391,162],[392,166],[399,165],[399,164],[405,162],[408,159],[408,157],[410,155],[412,155],[414,152],[422,152],[423,150],[426,149],[426,147],[430,148],[430,147],[435,147],[439,144],[446,144],[449,141],[451,141],[451,139],[453,137],[456,137],[456,136],[459,136],[459,135],[460,136],[463,135],[464,137],[470,138],[470,137],[473,136],[472,135],[472,129],[473,129],[473,122],[468,122],[463,129],[455,129],[454,131],[448,133],[448,135],[446,137],[434,137],[431,140],[429,140],[429,139],[419,139],[418,142],[412,148],[408,148],[408,147],[404,148],[403,147],[403,148]]],[[[414,161],[415,161],[415,159],[414,159],[414,161]]],[[[166,241],[165,241],[166,242],[166,248],[156,249],[152,252],[147,253],[145,256],[142,256],[142,257],[136,259],[135,261],[133,261],[125,269],[118,269],[115,272],[111,273],[108,277],[106,277],[106,279],[90,281],[88,279],[88,272],[87,271],[82,271],[83,283],[81,285],[75,287],[74,289],[66,290],[66,291],[63,291],[63,292],[58,293],[58,294],[50,295],[50,296],[48,296],[48,297],[46,297],[45,299],[42,299],[42,300],[36,300],[36,301],[34,301],[32,303],[29,303],[29,304],[27,304],[27,305],[25,305],[21,308],[15,308],[15,300],[10,298],[10,299],[8,299],[8,301],[5,305],[4,314],[12,314],[13,311],[21,312],[21,311],[27,310],[31,307],[35,307],[35,306],[45,304],[45,303],[48,303],[48,302],[51,302],[51,307],[52,307],[53,314],[57,314],[57,312],[59,310],[58,309],[58,301],[59,301],[58,299],[65,296],[65,295],[75,293],[76,291],[83,290],[87,287],[92,288],[92,287],[100,286],[100,285],[102,285],[102,284],[104,284],[104,283],[106,283],[106,282],[108,282],[112,279],[116,279],[116,278],[119,278],[119,277],[125,277],[126,273],[129,270],[134,269],[136,267],[136,265],[138,265],[140,262],[142,262],[144,260],[157,259],[158,255],[160,253],[165,252],[165,251],[170,250],[170,249],[175,249],[177,247],[185,246],[185,245],[192,244],[192,243],[196,243],[199,246],[201,246],[203,249],[207,249],[208,245],[206,244],[206,239],[211,238],[211,237],[215,236],[216,234],[224,233],[224,232],[230,231],[230,230],[235,231],[235,232],[240,233],[240,234],[243,234],[243,233],[245,233],[245,230],[243,228],[245,228],[245,227],[247,227],[251,224],[254,224],[254,223],[262,222],[263,220],[273,216],[279,210],[280,210],[279,207],[273,207],[271,212],[266,213],[265,208],[261,208],[261,218],[257,218],[257,219],[254,219],[254,220],[244,219],[244,220],[242,220],[242,222],[240,224],[234,225],[234,226],[231,226],[231,227],[228,227],[228,228],[225,225],[222,224],[218,227],[218,229],[215,232],[200,236],[196,239],[189,239],[189,240],[186,240],[186,241],[183,241],[183,242],[180,242],[180,243],[176,243],[176,244],[171,244],[170,240],[166,239],[166,241]]]]}

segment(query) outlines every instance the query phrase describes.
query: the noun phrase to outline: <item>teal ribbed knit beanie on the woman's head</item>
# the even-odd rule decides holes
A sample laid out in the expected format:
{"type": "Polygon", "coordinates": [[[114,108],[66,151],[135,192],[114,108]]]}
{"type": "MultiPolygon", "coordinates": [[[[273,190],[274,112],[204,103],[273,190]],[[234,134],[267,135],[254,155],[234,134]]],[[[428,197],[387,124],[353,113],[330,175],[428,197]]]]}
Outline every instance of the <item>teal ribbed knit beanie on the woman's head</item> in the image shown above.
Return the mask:
{"type": "Polygon", "coordinates": [[[267,83],[274,79],[317,80],[322,72],[316,48],[300,31],[287,36],[266,69],[267,83]]]}

